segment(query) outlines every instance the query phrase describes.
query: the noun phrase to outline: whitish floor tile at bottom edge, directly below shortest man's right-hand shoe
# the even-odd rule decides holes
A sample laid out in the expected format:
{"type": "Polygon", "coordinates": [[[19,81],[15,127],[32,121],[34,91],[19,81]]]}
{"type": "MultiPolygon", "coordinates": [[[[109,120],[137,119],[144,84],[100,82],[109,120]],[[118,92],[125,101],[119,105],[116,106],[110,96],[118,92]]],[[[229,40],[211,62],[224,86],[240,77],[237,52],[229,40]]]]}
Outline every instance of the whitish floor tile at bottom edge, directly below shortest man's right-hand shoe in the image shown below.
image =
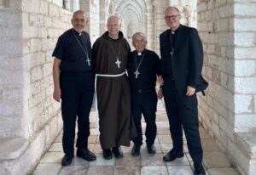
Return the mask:
{"type": "Polygon", "coordinates": [[[168,175],[166,166],[144,166],[141,175],[168,175]]]}

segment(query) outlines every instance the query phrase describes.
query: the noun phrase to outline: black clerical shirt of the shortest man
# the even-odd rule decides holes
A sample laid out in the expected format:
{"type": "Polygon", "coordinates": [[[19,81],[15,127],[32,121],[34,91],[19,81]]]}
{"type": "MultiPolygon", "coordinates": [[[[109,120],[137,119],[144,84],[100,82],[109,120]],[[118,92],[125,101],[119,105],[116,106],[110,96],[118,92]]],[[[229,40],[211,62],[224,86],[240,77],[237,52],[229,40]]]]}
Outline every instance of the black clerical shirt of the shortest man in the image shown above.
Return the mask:
{"type": "Polygon", "coordinates": [[[143,50],[142,55],[138,55],[137,51],[133,51],[129,54],[127,71],[131,93],[137,92],[139,89],[154,90],[156,75],[160,74],[160,58],[148,49],[143,50]],[[141,65],[139,65],[140,62],[141,65]],[[139,74],[136,78],[137,67],[139,74]]]}

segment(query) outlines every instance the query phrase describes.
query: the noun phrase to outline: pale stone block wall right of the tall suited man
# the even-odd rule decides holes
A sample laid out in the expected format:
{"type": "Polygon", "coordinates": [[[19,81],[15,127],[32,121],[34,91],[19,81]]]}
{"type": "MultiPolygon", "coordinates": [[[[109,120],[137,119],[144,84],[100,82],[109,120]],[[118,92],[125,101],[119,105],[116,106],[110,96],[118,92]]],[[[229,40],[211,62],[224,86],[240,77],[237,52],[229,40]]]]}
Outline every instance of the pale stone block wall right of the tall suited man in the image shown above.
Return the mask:
{"type": "Polygon", "coordinates": [[[200,96],[203,127],[241,174],[255,174],[256,6],[201,0],[197,7],[203,74],[210,82],[207,96],[200,96]]]}

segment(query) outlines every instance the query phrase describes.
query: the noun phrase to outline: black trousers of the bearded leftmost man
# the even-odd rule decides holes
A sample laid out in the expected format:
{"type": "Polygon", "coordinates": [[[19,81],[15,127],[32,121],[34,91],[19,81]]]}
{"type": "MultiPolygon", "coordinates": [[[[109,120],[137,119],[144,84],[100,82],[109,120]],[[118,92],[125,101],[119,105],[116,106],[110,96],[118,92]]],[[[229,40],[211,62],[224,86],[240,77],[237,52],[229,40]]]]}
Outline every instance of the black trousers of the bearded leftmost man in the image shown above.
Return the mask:
{"type": "Polygon", "coordinates": [[[63,120],[62,146],[64,153],[73,155],[75,126],[78,116],[76,146],[87,148],[90,135],[90,107],[94,94],[94,76],[91,71],[61,72],[61,113],[63,120]]]}

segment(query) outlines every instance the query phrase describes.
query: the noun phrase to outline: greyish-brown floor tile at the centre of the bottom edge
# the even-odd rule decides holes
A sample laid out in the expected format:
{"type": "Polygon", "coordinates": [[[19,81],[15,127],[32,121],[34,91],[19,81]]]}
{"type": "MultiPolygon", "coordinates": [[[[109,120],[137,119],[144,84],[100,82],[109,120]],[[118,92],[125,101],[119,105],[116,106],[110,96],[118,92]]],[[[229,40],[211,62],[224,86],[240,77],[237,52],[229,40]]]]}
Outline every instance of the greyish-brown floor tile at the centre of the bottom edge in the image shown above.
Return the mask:
{"type": "Polygon", "coordinates": [[[140,175],[140,167],[116,166],[113,175],[140,175]]]}

